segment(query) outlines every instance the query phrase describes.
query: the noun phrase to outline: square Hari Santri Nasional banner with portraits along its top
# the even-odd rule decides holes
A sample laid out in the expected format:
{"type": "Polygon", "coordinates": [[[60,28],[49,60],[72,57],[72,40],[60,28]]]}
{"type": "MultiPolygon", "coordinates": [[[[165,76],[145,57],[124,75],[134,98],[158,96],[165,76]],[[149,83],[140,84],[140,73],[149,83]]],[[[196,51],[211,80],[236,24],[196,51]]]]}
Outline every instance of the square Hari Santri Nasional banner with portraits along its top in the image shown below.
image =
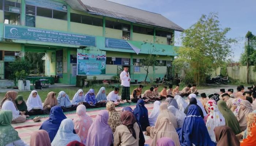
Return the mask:
{"type": "Polygon", "coordinates": [[[106,54],[77,53],[77,74],[106,74],[106,54]]]}

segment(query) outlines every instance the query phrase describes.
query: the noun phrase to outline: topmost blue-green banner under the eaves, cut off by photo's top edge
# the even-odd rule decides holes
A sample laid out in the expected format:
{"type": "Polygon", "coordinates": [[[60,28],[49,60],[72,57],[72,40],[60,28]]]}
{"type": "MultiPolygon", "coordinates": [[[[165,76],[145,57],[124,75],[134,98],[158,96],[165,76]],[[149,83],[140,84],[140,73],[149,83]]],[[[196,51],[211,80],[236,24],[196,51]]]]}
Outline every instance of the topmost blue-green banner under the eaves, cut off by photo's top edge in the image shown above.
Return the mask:
{"type": "Polygon", "coordinates": [[[56,9],[61,11],[67,11],[67,4],[60,3],[53,0],[26,0],[26,4],[34,5],[38,7],[45,7],[50,9],[56,9]]]}

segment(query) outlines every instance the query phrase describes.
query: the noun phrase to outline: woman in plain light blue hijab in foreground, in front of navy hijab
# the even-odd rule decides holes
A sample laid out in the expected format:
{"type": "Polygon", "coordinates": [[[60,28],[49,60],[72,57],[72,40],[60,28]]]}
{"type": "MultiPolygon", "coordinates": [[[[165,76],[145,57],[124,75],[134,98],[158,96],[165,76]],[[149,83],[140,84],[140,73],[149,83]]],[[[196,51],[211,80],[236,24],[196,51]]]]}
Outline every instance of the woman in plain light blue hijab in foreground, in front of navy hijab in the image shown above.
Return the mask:
{"type": "Polygon", "coordinates": [[[72,141],[81,141],[77,134],[73,133],[74,123],[71,119],[64,119],[61,121],[59,130],[54,137],[52,146],[66,146],[72,141]]]}

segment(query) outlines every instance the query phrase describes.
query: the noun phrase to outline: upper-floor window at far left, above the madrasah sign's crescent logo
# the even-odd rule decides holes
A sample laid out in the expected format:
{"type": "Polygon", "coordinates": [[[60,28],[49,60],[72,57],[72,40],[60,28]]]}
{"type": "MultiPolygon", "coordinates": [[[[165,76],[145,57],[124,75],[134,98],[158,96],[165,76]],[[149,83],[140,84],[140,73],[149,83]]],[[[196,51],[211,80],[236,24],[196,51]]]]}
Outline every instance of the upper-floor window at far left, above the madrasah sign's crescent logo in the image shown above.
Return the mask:
{"type": "Polygon", "coordinates": [[[20,25],[20,14],[5,11],[4,23],[12,24],[12,25],[20,25]]]}

